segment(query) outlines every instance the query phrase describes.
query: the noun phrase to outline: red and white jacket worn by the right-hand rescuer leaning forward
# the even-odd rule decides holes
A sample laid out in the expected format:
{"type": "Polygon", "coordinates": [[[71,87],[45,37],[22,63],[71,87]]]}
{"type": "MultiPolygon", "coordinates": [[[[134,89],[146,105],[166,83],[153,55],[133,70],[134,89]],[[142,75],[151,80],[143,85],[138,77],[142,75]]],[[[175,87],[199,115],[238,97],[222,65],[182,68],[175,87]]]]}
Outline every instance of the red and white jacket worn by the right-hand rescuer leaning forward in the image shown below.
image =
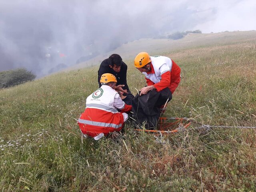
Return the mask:
{"type": "Polygon", "coordinates": [[[180,67],[165,56],[150,56],[151,71],[142,72],[148,86],[153,85],[159,92],[168,87],[173,93],[180,83],[180,67]]]}

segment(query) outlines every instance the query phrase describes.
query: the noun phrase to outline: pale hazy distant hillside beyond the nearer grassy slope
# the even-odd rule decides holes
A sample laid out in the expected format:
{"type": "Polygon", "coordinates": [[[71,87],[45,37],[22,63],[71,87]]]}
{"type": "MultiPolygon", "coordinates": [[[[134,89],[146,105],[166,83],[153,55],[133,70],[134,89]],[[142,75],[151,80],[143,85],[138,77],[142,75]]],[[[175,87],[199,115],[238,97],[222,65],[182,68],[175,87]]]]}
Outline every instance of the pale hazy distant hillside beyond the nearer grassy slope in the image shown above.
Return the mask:
{"type": "Polygon", "coordinates": [[[74,65],[68,70],[84,68],[87,66],[98,65],[113,53],[120,54],[123,60],[133,59],[139,52],[146,51],[150,54],[159,54],[161,52],[174,52],[198,46],[234,44],[236,42],[252,42],[256,40],[256,31],[234,31],[209,34],[187,34],[184,38],[178,40],[170,39],[140,39],[127,44],[123,44],[116,50],[104,55],[94,57],[86,62],[74,65]]]}

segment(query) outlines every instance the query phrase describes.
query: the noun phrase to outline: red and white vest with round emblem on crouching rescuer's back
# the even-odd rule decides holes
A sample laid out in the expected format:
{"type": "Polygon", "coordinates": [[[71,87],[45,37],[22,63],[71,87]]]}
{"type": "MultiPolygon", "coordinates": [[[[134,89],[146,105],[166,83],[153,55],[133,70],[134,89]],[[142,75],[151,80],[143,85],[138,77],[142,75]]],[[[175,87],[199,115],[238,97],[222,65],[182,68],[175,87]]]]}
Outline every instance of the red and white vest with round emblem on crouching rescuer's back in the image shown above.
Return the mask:
{"type": "Polygon", "coordinates": [[[110,86],[102,85],[88,96],[86,109],[78,119],[83,134],[94,137],[99,133],[106,135],[122,129],[124,116],[114,107],[116,94],[116,90],[110,86]]]}

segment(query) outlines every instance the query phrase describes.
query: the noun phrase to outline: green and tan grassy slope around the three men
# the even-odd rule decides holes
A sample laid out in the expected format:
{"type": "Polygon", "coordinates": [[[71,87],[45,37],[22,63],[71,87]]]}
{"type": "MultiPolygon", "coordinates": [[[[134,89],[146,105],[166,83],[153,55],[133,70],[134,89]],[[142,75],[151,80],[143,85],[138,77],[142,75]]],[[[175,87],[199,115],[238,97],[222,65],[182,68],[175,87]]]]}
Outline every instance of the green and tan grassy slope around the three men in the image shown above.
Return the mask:
{"type": "MultiPolygon", "coordinates": [[[[196,41],[196,40],[195,40],[196,41]]],[[[198,39],[198,41],[200,41],[198,39]]],[[[182,68],[166,116],[256,125],[256,38],[159,54],[182,68]],[[250,47],[248,47],[250,46],[250,47]]],[[[128,64],[132,92],[144,77],[128,64]]],[[[98,66],[0,90],[0,188],[6,191],[255,191],[256,132],[166,136],[126,125],[120,140],[83,140],[74,118],[97,88],[98,66]],[[22,163],[22,164],[21,164],[22,163]]]]}

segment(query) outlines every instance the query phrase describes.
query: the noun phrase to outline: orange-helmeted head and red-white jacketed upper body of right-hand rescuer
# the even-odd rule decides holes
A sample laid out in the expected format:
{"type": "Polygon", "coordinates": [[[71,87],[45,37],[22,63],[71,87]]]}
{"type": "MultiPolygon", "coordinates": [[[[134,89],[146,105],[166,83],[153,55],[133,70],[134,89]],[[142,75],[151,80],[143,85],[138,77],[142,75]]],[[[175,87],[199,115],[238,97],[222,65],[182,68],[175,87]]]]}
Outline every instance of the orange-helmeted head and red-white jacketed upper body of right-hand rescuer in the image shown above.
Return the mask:
{"type": "Polygon", "coordinates": [[[180,83],[180,67],[168,57],[149,56],[147,52],[140,52],[134,59],[134,66],[146,78],[147,86],[140,90],[140,96],[150,90],[160,92],[167,87],[173,94],[180,83]]]}

